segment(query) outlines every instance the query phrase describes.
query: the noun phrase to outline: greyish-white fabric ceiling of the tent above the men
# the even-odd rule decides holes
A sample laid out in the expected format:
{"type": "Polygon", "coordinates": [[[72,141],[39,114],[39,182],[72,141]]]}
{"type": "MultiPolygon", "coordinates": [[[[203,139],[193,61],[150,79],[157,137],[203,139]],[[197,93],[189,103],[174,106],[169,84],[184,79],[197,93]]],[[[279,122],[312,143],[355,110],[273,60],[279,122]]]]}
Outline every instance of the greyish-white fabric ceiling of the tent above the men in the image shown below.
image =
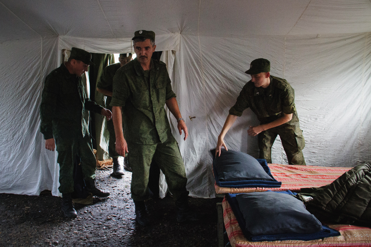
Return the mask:
{"type": "Polygon", "coordinates": [[[370,0],[4,0],[0,16],[2,41],[37,34],[121,39],[138,29],[217,37],[371,31],[370,0]]]}

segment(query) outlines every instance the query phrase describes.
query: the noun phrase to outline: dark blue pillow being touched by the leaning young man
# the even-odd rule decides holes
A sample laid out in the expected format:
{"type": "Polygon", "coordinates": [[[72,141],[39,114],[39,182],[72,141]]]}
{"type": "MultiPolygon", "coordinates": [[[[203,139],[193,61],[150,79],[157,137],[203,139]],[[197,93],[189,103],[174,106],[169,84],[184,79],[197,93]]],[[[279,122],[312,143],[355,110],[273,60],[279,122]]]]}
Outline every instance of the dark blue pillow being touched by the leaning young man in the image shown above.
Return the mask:
{"type": "Polygon", "coordinates": [[[222,149],[220,156],[215,157],[215,149],[210,152],[213,156],[213,164],[217,170],[220,182],[241,180],[276,181],[249,154],[222,149]]]}

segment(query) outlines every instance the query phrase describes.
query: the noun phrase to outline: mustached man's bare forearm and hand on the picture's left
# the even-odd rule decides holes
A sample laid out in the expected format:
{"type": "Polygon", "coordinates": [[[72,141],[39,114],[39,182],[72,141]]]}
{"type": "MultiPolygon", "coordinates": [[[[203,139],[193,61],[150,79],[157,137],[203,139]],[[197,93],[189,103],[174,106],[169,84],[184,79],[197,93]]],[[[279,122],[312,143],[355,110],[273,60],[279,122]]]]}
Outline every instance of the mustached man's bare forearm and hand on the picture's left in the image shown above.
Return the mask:
{"type": "Polygon", "coordinates": [[[124,138],[124,132],[122,131],[121,106],[112,106],[112,121],[115,128],[116,152],[122,157],[125,157],[125,153],[129,153],[129,151],[128,144],[124,138]]]}

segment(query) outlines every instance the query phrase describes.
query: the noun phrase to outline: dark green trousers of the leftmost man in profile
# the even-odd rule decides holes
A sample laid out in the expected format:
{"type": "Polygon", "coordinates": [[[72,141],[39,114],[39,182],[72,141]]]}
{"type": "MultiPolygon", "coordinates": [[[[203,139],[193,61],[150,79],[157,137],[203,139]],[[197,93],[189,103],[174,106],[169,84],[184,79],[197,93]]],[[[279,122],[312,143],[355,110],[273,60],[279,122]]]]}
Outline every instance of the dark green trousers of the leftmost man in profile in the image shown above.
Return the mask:
{"type": "Polygon", "coordinates": [[[73,192],[73,164],[76,155],[81,159],[82,173],[85,180],[95,178],[96,160],[93,153],[91,137],[59,138],[56,139],[58,151],[57,162],[59,163],[60,193],[73,192]]]}

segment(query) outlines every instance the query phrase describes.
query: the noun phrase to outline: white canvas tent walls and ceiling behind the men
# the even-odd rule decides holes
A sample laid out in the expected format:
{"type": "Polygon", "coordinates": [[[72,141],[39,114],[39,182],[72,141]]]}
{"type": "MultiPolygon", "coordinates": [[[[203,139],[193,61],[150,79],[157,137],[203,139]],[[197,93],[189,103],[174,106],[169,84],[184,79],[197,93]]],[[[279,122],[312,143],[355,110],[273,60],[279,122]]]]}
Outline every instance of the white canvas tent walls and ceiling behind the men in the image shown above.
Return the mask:
{"type": "MultiPolygon", "coordinates": [[[[173,133],[191,196],[214,196],[208,152],[249,80],[243,71],[259,57],[295,89],[308,165],[371,160],[370,0],[0,0],[0,23],[0,193],[58,195],[39,106],[61,50],[133,52],[140,29],[155,31],[157,50],[173,51],[164,54],[174,55],[168,69],[190,136],[173,133]]],[[[257,140],[247,136],[255,124],[245,110],[227,146],[257,157],[257,140]]],[[[272,157],[287,162],[279,138],[272,157]]]]}

